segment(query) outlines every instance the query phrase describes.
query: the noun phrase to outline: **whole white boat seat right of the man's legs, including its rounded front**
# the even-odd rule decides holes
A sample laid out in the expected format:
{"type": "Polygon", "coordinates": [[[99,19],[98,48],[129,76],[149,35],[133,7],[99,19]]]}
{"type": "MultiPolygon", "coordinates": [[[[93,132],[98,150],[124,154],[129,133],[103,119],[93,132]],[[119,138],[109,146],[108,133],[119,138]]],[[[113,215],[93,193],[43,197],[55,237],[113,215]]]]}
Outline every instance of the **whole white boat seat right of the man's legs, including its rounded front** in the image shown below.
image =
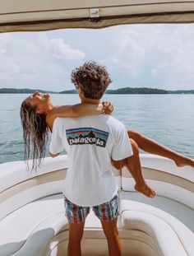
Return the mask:
{"type": "Polygon", "coordinates": [[[184,251],[186,252],[185,255],[192,255],[194,252],[194,234],[192,230],[187,228],[187,226],[181,221],[178,221],[176,217],[170,215],[168,212],[164,212],[158,207],[153,207],[146,203],[126,199],[121,200],[120,210],[123,228],[139,229],[149,233],[153,237],[158,236],[157,240],[161,248],[165,243],[169,244],[169,240],[170,243],[172,240],[172,243],[175,243],[178,248],[182,248],[182,254],[173,254],[165,247],[165,256],[184,255],[184,251]],[[140,213],[140,216],[138,215],[138,212],[140,213]],[[139,216],[139,219],[137,216],[139,216]],[[134,223],[136,223],[136,225],[134,223]],[[145,225],[141,225],[142,223],[145,223],[145,225]],[[176,239],[176,237],[178,237],[178,239],[176,239]]]}

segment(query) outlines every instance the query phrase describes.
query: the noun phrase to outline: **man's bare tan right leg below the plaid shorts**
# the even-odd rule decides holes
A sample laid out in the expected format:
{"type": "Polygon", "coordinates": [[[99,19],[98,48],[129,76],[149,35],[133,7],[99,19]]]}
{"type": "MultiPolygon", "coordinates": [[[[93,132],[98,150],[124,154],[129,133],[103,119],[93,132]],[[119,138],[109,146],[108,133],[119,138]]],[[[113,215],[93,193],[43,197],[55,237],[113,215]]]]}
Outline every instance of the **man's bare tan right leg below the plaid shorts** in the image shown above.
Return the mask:
{"type": "Polygon", "coordinates": [[[101,223],[108,242],[109,256],[121,256],[122,247],[118,236],[118,218],[113,219],[113,221],[101,221],[101,223]]]}

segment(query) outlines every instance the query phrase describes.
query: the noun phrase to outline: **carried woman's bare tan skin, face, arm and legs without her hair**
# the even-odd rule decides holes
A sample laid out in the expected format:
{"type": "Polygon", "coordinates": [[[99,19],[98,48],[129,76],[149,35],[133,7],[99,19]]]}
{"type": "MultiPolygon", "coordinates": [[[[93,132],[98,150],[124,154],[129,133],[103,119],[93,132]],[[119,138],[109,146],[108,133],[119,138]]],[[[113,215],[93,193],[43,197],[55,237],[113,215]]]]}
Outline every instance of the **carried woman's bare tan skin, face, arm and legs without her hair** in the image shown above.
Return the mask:
{"type": "MultiPolygon", "coordinates": [[[[102,112],[110,114],[113,110],[112,105],[110,105],[109,102],[105,102],[104,108],[102,105],[91,105],[90,103],[64,106],[53,105],[48,94],[41,94],[39,92],[35,92],[33,95],[30,95],[27,100],[30,102],[30,105],[36,106],[37,114],[43,112],[46,113],[46,121],[51,131],[54,119],[57,117],[77,117],[81,115],[101,114],[102,112]]],[[[126,165],[127,169],[136,181],[134,188],[138,192],[145,194],[147,197],[153,198],[155,196],[155,191],[150,189],[142,176],[139,148],[155,155],[168,157],[178,166],[191,165],[194,167],[194,161],[191,158],[182,156],[177,152],[170,150],[168,147],[164,147],[158,142],[151,140],[149,137],[145,137],[141,133],[137,133],[136,131],[129,130],[127,133],[132,144],[133,156],[122,161],[113,161],[113,165],[117,169],[121,169],[126,165]]]]}

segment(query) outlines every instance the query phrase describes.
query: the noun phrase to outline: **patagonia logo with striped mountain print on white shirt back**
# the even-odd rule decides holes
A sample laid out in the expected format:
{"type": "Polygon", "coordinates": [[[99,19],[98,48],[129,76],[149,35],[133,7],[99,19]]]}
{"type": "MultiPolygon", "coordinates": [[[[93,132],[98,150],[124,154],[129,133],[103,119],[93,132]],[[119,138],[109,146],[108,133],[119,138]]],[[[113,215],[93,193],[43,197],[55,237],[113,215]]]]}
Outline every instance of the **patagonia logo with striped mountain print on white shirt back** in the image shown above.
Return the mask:
{"type": "Polygon", "coordinates": [[[109,133],[95,128],[67,129],[67,142],[72,145],[95,144],[99,147],[106,147],[109,133]]]}

